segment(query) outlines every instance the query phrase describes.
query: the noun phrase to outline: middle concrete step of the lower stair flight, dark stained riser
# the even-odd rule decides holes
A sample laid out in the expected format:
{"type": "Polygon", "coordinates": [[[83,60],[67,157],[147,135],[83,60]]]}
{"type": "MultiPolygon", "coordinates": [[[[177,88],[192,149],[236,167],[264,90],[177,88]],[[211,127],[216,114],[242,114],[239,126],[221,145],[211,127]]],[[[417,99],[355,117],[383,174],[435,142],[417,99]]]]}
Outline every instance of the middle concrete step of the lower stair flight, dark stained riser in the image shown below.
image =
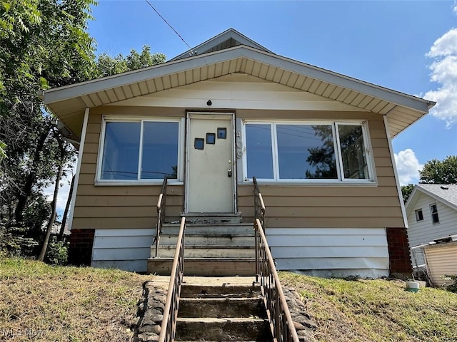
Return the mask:
{"type": "Polygon", "coordinates": [[[179,317],[266,318],[262,298],[181,298],[179,317]]]}

